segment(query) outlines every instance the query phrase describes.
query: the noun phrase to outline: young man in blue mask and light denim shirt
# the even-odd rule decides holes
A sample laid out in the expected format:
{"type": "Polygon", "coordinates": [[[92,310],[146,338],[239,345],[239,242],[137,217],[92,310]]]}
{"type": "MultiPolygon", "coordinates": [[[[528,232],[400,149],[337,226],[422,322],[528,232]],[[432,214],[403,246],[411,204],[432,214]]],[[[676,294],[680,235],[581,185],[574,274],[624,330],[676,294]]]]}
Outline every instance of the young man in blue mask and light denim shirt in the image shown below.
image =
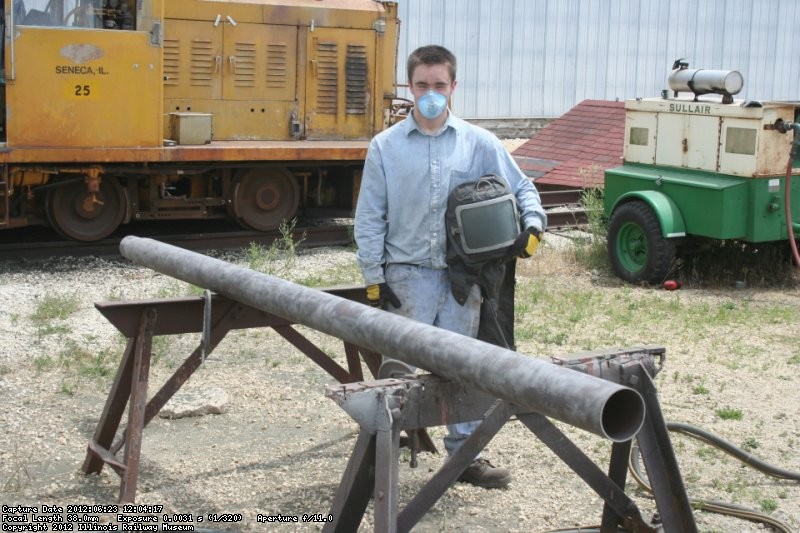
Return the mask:
{"type": "MultiPolygon", "coordinates": [[[[533,254],[547,218],[536,188],[497,137],[448,109],[457,84],[455,56],[442,46],[423,46],[409,56],[407,70],[415,106],[370,143],[355,214],[356,258],[371,304],[475,337],[480,288],[473,285],[460,305],[448,276],[445,211],[450,191],[487,174],[504,177],[520,211],[522,232],[512,246],[519,257],[533,254]]],[[[447,426],[448,454],[478,423],[447,426]]],[[[511,474],[477,458],[459,479],[502,488],[511,474]]]]}

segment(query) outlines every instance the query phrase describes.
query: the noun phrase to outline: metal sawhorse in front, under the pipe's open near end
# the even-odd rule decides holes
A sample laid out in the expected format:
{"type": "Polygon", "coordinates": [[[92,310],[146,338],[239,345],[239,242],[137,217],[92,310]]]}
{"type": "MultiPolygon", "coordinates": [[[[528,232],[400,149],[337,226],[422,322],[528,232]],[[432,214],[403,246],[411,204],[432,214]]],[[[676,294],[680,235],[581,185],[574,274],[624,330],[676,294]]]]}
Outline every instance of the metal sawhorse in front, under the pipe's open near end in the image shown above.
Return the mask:
{"type": "Polygon", "coordinates": [[[513,419],[525,425],[603,499],[602,533],[616,533],[620,528],[636,533],[697,531],[652,381],[663,357],[663,348],[645,346],[587,352],[575,359],[554,361],[579,372],[624,383],[646,396],[647,414],[638,439],[659,513],[658,519],[651,523],[645,521],[624,490],[632,440],[613,443],[606,474],[541,413],[497,400],[473,387],[422,375],[328,387],[328,396],[361,429],[334,496],[330,510],[333,521],[325,524],[323,531],[357,531],[371,495],[374,495],[376,532],[410,531],[474,457],[513,419]],[[396,439],[400,432],[470,420],[482,422],[405,507],[399,509],[396,439]]]}

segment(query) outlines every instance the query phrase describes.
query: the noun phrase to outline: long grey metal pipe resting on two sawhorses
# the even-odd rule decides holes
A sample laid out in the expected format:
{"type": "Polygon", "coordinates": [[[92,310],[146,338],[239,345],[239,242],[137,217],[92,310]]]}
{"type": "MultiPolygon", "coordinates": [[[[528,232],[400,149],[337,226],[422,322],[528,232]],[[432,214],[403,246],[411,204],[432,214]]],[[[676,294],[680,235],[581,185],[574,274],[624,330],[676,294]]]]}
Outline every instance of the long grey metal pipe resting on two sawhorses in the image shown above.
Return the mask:
{"type": "Polygon", "coordinates": [[[131,261],[344,339],[616,442],[644,421],[638,392],[434,326],[152,239],[128,236],[131,261]]]}

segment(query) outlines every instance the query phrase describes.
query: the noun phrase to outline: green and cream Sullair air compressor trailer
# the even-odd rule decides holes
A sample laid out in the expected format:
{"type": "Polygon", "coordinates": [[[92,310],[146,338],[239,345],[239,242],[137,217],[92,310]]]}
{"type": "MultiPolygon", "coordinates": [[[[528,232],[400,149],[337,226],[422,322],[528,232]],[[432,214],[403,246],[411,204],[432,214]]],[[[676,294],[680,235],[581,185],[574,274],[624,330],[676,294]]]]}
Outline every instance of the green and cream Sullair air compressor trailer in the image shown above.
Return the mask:
{"type": "Polygon", "coordinates": [[[614,272],[660,283],[692,237],[794,244],[800,101],[735,100],[738,72],[679,62],[669,85],[660,98],[625,102],[623,164],[605,172],[614,272]]]}

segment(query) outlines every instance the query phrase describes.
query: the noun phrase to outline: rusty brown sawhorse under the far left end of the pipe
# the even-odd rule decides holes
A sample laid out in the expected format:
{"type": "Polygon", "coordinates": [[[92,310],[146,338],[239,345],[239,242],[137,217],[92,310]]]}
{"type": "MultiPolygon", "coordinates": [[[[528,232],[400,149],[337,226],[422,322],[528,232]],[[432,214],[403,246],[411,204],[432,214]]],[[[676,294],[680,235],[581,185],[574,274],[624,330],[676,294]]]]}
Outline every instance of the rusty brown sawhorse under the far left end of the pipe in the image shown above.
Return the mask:
{"type": "MultiPolygon", "coordinates": [[[[351,300],[366,301],[363,287],[326,292],[351,300]]],[[[144,428],[189,380],[228,332],[271,327],[340,383],[364,379],[361,359],[373,375],[377,375],[380,366],[380,355],[344,342],[347,361],[345,369],[300,334],[286,319],[221,295],[215,294],[209,298],[103,302],[95,304],[95,307],[127,338],[127,344],[94,436],[87,446],[82,470],[86,474],[99,473],[104,465],[108,465],[119,474],[120,503],[131,503],[136,498],[144,428]],[[203,337],[198,347],[148,401],[153,337],[184,333],[202,333],[203,337]],[[115,439],[128,405],[127,426],[115,439]],[[117,454],[123,447],[123,456],[119,458],[117,454]]],[[[408,438],[404,439],[413,442],[420,450],[436,452],[436,446],[423,429],[409,433],[408,438]]]]}

